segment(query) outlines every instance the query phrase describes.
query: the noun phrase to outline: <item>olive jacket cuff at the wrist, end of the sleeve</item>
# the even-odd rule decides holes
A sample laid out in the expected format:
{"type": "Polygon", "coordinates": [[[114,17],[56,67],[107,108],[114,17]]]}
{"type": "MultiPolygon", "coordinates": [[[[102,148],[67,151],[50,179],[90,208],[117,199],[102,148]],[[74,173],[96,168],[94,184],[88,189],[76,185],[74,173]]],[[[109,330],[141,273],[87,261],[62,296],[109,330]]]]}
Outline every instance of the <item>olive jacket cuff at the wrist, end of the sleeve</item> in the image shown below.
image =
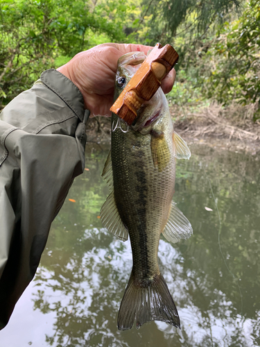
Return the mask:
{"type": "Polygon", "coordinates": [[[42,72],[41,81],[60,96],[60,99],[69,106],[80,121],[83,121],[85,111],[83,94],[69,78],[55,69],[49,69],[42,72]]]}

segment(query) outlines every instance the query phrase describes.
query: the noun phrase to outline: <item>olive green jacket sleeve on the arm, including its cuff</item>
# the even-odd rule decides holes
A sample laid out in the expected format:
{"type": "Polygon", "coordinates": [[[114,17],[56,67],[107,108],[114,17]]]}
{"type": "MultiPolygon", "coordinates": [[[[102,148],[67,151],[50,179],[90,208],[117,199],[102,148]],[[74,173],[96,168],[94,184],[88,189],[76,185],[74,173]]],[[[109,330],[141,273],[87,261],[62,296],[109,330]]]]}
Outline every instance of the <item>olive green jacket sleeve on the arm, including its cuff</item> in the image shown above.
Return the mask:
{"type": "Polygon", "coordinates": [[[73,178],[84,170],[88,117],[80,90],[54,69],[1,113],[0,329],[35,275],[73,178]]]}

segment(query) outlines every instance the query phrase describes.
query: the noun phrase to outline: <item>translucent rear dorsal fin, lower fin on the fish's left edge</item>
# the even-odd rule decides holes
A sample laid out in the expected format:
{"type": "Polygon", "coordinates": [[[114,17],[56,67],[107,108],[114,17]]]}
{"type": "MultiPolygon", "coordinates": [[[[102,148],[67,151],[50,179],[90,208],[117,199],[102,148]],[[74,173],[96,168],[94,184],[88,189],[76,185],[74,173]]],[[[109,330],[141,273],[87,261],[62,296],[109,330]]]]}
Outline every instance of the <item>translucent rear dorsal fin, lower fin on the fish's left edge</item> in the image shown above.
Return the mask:
{"type": "Polygon", "coordinates": [[[128,239],[128,230],[121,221],[119,210],[117,210],[116,202],[114,201],[114,190],[107,197],[101,208],[101,221],[103,226],[112,232],[115,237],[123,241],[128,239]]]}

